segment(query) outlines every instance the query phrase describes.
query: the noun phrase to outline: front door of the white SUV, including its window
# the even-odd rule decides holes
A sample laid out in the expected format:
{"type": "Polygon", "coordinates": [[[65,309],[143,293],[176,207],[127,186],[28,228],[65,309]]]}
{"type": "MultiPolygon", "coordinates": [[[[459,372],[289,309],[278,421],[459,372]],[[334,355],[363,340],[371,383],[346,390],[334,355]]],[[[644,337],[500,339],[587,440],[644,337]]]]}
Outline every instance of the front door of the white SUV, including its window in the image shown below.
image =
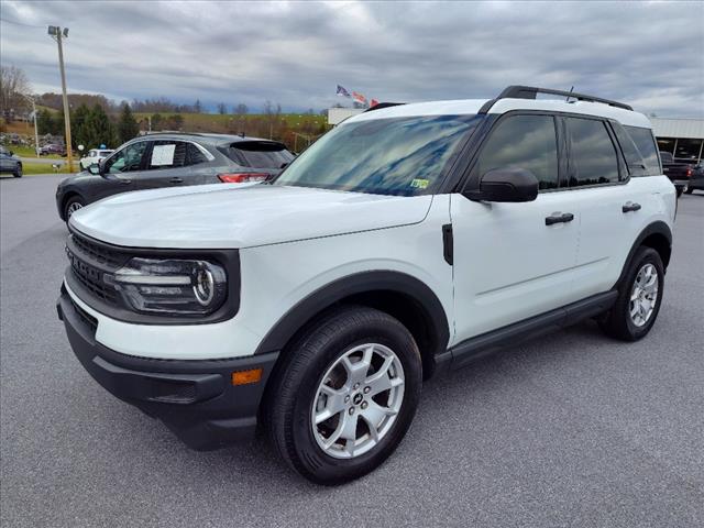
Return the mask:
{"type": "Polygon", "coordinates": [[[451,197],[455,339],[465,339],[559,308],[575,299],[578,199],[562,186],[557,120],[508,114],[490,132],[473,177],[519,167],[539,182],[535,201],[488,204],[451,197]]]}

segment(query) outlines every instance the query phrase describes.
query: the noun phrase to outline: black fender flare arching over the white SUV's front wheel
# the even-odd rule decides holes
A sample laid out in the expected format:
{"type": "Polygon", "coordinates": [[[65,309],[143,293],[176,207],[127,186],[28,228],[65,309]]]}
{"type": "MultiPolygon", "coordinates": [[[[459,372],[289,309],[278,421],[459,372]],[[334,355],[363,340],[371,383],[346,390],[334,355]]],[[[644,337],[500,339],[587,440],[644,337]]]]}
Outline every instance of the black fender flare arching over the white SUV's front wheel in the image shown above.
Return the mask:
{"type": "Polygon", "coordinates": [[[255,354],[280,351],[288,341],[316,315],[340,300],[372,292],[392,292],[415,300],[422,310],[436,346],[432,352],[444,352],[450,339],[448,317],[440,299],[424,282],[402,272],[373,271],[339,278],[311,293],[294,305],[261,341],[255,354]]]}

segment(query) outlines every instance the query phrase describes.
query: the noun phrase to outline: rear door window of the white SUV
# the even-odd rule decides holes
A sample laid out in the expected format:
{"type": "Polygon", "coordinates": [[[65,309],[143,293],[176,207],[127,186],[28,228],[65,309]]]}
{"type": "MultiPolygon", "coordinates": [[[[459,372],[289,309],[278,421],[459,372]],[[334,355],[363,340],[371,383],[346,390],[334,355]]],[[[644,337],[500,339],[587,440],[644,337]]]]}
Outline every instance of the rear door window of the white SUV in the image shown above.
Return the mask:
{"type": "Polygon", "coordinates": [[[606,124],[568,118],[571,138],[570,187],[618,182],[618,157],[606,124]]]}

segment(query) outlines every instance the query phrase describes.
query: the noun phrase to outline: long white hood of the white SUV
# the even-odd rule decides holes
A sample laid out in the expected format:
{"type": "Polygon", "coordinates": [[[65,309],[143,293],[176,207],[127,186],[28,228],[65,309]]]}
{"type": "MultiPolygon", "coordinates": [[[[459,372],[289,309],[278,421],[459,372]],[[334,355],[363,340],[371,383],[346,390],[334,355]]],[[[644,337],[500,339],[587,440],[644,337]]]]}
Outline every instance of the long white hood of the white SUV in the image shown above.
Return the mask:
{"type": "Polygon", "coordinates": [[[72,228],[122,246],[241,249],[422,221],[432,196],[215,184],[127,193],[76,211],[72,228]]]}

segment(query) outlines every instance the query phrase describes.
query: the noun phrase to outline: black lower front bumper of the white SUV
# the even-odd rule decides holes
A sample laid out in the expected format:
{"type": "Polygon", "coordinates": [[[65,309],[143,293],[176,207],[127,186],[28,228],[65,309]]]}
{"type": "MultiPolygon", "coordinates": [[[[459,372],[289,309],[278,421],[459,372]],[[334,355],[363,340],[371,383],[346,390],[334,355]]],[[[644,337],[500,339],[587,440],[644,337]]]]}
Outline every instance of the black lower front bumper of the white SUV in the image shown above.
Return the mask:
{"type": "Polygon", "coordinates": [[[234,360],[135,358],[98,343],[95,319],[64,287],[56,308],[88,373],[116,397],[162,420],[188,447],[210,450],[253,438],[277,352],[234,360]],[[258,367],[257,383],[232,385],[233,372],[258,367]]]}

